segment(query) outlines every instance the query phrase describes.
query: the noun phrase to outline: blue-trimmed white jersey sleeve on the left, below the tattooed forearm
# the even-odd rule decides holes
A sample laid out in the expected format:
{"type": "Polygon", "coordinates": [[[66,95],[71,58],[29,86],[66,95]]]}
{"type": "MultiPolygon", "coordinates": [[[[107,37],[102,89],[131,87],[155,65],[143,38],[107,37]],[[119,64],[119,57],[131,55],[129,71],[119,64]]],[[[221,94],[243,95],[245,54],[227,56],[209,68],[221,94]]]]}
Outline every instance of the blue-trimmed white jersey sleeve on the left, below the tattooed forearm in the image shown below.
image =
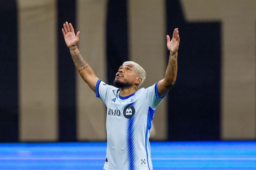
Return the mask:
{"type": "Polygon", "coordinates": [[[108,93],[111,92],[114,88],[114,86],[108,85],[98,79],[96,83],[96,97],[99,97],[105,104],[107,101],[108,93]]]}

